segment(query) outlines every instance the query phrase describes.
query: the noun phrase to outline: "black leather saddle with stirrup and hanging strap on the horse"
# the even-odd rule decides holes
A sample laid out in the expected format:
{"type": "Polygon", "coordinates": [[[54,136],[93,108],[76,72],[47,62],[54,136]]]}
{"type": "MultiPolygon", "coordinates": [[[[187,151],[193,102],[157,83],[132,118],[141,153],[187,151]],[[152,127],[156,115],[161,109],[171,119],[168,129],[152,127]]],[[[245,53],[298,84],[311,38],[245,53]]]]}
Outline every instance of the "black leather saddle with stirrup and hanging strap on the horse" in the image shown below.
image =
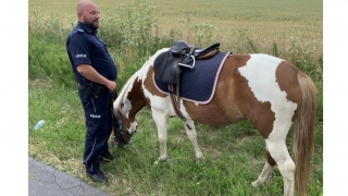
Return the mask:
{"type": "Polygon", "coordinates": [[[185,118],[178,107],[181,73],[195,69],[196,60],[214,57],[219,52],[219,47],[220,42],[216,42],[204,49],[199,49],[184,40],[178,40],[171,46],[169,51],[160,53],[154,59],[153,71],[156,78],[167,84],[169,89],[172,91],[174,91],[174,84],[176,84],[176,100],[173,94],[171,94],[171,100],[176,114],[184,121],[185,118]]]}

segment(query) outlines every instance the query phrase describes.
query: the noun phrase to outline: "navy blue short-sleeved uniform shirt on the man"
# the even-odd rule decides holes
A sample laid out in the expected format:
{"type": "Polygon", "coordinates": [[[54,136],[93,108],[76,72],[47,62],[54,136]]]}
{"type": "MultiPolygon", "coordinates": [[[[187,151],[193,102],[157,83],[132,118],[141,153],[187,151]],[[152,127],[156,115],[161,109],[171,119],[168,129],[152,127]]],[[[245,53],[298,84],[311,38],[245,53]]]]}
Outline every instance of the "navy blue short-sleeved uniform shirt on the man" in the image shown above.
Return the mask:
{"type": "Polygon", "coordinates": [[[77,83],[83,76],[77,72],[79,64],[91,65],[99,74],[110,81],[117,76],[116,66],[107,45],[97,36],[97,30],[78,22],[66,39],[66,51],[77,83]]]}

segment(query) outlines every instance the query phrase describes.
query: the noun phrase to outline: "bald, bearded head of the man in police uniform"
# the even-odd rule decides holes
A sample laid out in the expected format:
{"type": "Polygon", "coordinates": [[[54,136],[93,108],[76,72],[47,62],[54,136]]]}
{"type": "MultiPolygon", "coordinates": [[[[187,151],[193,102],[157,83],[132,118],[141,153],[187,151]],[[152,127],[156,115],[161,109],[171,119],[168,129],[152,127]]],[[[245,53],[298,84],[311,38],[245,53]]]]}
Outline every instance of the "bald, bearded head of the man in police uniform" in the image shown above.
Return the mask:
{"type": "Polygon", "coordinates": [[[99,10],[96,3],[89,0],[80,0],[76,7],[79,22],[97,29],[99,27],[99,10]]]}

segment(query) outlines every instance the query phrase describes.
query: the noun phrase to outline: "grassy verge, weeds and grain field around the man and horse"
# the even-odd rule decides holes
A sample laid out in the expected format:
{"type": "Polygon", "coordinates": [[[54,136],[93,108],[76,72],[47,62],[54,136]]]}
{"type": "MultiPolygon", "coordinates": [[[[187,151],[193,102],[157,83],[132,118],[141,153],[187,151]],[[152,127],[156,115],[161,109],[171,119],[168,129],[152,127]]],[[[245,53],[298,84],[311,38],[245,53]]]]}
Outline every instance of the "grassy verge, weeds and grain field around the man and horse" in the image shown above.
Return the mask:
{"type": "MultiPolygon", "coordinates": [[[[222,50],[262,52],[291,61],[318,89],[318,120],[309,195],[323,195],[323,2],[320,0],[95,1],[100,37],[117,64],[119,91],[157,49],[176,39],[222,50]],[[133,4],[134,3],[134,4],[133,4]],[[129,26],[133,27],[130,28],[129,26]]],[[[197,124],[206,161],[197,164],[179,119],[169,122],[169,162],[158,166],[159,142],[149,109],[137,115],[138,133],[120,156],[102,166],[109,182],[85,175],[85,120],[65,53],[76,24],[75,1],[29,0],[28,154],[112,195],[282,195],[277,168],[253,188],[264,164],[264,140],[248,122],[228,126],[197,124]],[[46,120],[42,128],[34,125],[46,120]]],[[[289,134],[287,143],[290,146],[289,134]]],[[[289,148],[290,150],[290,148],[289,148]]]]}

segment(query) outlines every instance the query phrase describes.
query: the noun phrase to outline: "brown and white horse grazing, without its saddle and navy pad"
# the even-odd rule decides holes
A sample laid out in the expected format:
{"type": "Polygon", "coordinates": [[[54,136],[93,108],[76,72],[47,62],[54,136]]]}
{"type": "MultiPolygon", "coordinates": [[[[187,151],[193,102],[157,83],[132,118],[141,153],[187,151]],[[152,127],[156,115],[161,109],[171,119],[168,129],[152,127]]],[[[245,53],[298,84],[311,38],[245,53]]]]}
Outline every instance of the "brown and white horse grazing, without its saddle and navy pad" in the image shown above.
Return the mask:
{"type": "MultiPolygon", "coordinates": [[[[125,84],[114,101],[114,113],[122,120],[119,139],[124,143],[136,132],[135,115],[150,107],[158,128],[160,160],[167,159],[167,120],[176,113],[170,96],[153,83],[153,61],[167,48],[157,51],[125,84]]],[[[291,63],[269,54],[229,54],[220,72],[215,93],[210,102],[201,105],[181,99],[181,112],[187,136],[197,160],[203,155],[197,143],[194,122],[226,125],[249,120],[266,144],[265,164],[251,183],[264,183],[277,164],[284,180],[284,195],[307,195],[313,151],[313,127],[316,88],[312,79],[291,63]],[[294,126],[293,157],[286,136],[294,126]]]]}

